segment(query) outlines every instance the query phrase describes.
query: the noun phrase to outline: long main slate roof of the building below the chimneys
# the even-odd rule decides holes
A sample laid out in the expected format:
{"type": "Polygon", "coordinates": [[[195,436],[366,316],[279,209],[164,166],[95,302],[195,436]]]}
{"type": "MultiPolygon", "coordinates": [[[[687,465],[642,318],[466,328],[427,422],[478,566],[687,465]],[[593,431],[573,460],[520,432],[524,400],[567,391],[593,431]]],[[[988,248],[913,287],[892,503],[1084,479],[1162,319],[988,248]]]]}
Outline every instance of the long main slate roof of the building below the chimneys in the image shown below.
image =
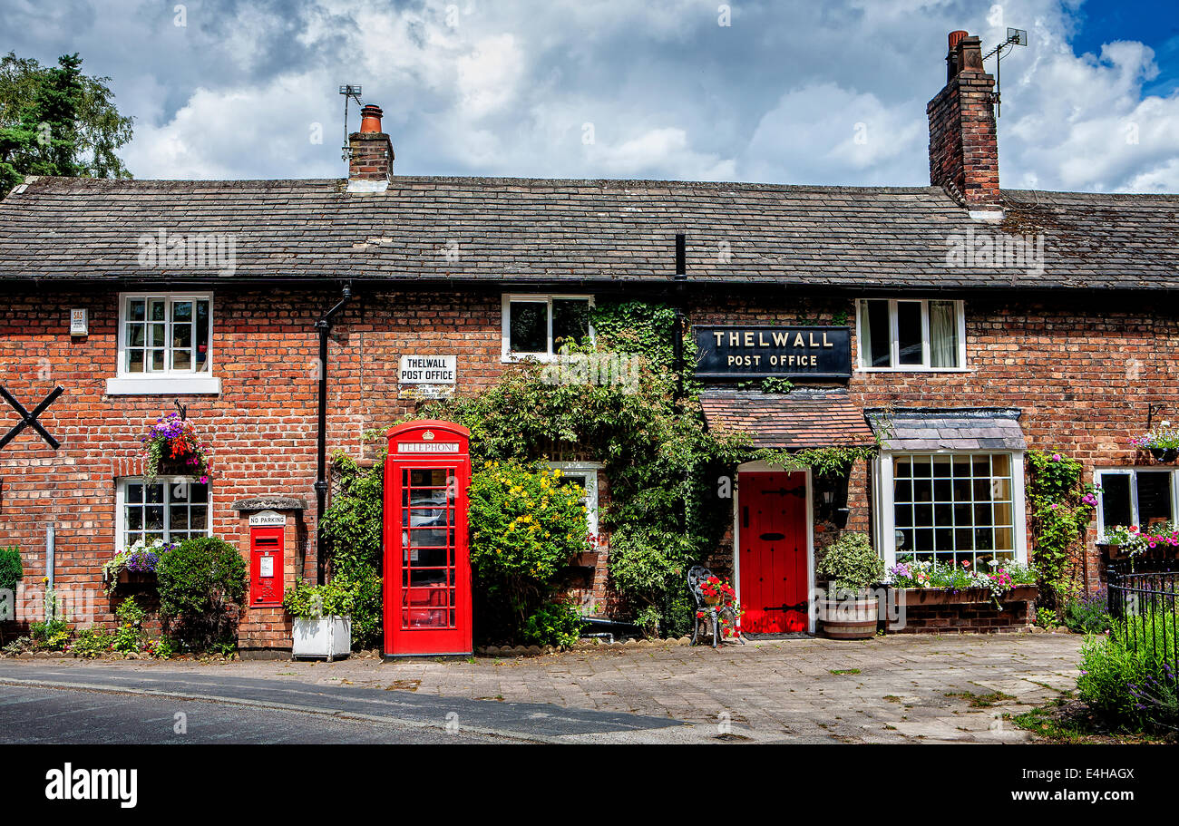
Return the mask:
{"type": "Polygon", "coordinates": [[[685,232],[690,282],[1179,288],[1179,196],[1005,199],[1001,237],[1043,232],[1043,273],[949,266],[951,236],[996,227],[938,187],[396,176],[384,193],[350,194],[334,179],[38,178],[0,203],[0,280],[663,283],[685,232]],[[232,276],[140,266],[138,239],[160,230],[231,233],[232,276]]]}

